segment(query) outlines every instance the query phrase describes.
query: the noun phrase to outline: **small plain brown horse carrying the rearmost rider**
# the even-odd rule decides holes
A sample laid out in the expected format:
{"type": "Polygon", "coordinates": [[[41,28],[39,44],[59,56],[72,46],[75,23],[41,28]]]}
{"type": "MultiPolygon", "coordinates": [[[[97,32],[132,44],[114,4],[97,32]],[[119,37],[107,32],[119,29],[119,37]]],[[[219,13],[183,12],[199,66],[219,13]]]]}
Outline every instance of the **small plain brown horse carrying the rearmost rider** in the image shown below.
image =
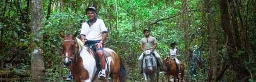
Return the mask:
{"type": "Polygon", "coordinates": [[[168,82],[170,82],[170,75],[174,76],[174,82],[176,82],[176,78],[178,79],[178,82],[183,82],[183,76],[184,76],[184,64],[180,62],[180,78],[178,76],[178,71],[177,71],[177,65],[174,60],[171,58],[167,57],[163,60],[163,68],[165,73],[165,78],[168,82]]]}

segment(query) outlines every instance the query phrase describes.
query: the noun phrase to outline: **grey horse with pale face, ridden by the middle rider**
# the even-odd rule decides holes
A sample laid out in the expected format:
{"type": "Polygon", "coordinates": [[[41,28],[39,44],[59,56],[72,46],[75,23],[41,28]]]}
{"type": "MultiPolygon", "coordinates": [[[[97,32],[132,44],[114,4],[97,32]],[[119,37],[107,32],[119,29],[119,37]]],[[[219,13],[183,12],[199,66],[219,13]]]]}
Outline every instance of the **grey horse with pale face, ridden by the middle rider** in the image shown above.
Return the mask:
{"type": "Polygon", "coordinates": [[[150,82],[158,82],[159,67],[157,66],[157,59],[151,53],[151,50],[145,50],[142,67],[145,81],[150,79],[150,82]],[[155,75],[157,81],[155,81],[155,75]]]}

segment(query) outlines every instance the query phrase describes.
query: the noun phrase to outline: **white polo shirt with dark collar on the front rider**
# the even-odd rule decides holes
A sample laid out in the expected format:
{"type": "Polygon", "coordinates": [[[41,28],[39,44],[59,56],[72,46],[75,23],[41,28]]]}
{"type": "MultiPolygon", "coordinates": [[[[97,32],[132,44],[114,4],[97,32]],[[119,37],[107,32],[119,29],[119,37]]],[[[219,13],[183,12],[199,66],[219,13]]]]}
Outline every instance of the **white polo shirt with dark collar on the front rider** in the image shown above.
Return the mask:
{"type": "Polygon", "coordinates": [[[107,32],[107,28],[102,19],[97,19],[93,25],[89,26],[87,22],[82,24],[80,35],[85,35],[85,38],[90,41],[101,40],[102,32],[107,32]]]}

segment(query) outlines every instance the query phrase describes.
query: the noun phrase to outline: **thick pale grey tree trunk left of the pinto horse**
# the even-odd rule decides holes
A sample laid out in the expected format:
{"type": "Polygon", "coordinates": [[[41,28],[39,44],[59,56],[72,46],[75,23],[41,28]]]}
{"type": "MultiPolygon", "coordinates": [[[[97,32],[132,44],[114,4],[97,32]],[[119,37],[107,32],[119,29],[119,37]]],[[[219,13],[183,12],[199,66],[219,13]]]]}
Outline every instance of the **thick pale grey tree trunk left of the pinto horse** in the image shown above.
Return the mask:
{"type": "Polygon", "coordinates": [[[32,12],[31,12],[31,22],[30,28],[33,35],[32,42],[30,43],[31,49],[31,73],[33,82],[44,82],[44,57],[43,50],[40,48],[41,42],[43,40],[40,31],[43,28],[43,6],[42,0],[32,0],[32,12]]]}

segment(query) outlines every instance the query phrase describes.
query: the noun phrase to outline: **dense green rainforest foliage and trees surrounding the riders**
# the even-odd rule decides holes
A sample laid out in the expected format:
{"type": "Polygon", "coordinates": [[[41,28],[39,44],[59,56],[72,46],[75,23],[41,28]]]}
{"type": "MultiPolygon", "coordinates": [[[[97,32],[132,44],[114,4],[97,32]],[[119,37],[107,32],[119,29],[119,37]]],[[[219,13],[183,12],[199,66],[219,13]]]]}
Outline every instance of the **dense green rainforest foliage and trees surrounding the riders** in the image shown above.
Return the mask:
{"type": "Polygon", "coordinates": [[[255,0],[0,0],[0,5],[1,82],[30,81],[37,58],[44,63],[44,80],[64,81],[69,69],[61,62],[59,32],[80,32],[88,6],[105,22],[104,46],[119,54],[128,81],[143,80],[139,42],[148,28],[162,58],[177,42],[187,82],[256,82],[255,0]],[[33,54],[35,48],[42,56],[33,54]]]}

